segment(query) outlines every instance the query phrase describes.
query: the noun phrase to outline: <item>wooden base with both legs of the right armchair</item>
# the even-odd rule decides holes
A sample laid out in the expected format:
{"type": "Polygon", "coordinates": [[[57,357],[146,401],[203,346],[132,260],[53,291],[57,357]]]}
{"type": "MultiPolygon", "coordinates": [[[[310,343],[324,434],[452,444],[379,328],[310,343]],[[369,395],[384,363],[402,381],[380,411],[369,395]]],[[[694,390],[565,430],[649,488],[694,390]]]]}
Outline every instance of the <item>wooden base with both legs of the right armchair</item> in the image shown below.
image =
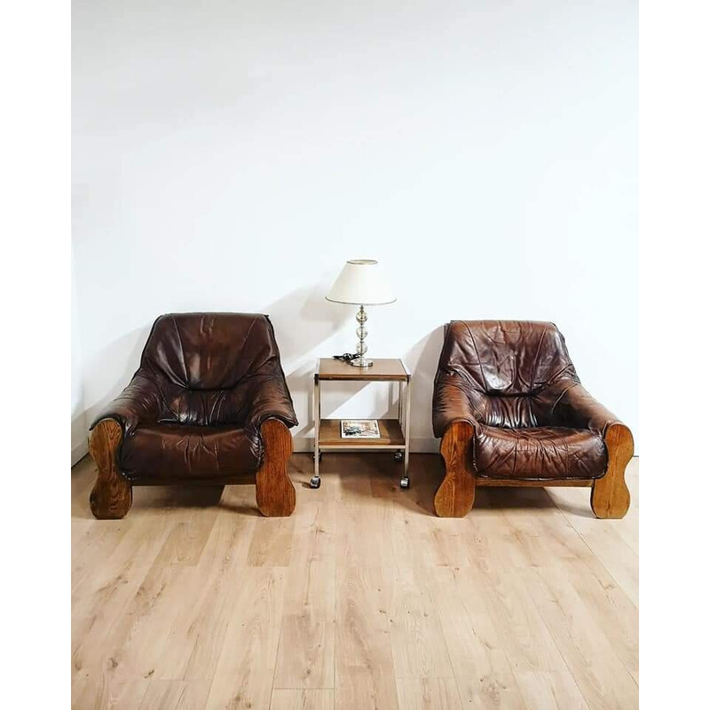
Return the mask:
{"type": "Polygon", "coordinates": [[[591,487],[592,510],[596,517],[621,518],[631,503],[624,474],[634,455],[634,439],[623,424],[612,424],[604,436],[609,463],[604,477],[597,479],[551,479],[545,481],[501,480],[477,477],[473,464],[473,427],[469,422],[452,422],[441,438],[440,454],[446,474],[434,496],[438,517],[464,517],[476,497],[476,487],[591,487]]]}

